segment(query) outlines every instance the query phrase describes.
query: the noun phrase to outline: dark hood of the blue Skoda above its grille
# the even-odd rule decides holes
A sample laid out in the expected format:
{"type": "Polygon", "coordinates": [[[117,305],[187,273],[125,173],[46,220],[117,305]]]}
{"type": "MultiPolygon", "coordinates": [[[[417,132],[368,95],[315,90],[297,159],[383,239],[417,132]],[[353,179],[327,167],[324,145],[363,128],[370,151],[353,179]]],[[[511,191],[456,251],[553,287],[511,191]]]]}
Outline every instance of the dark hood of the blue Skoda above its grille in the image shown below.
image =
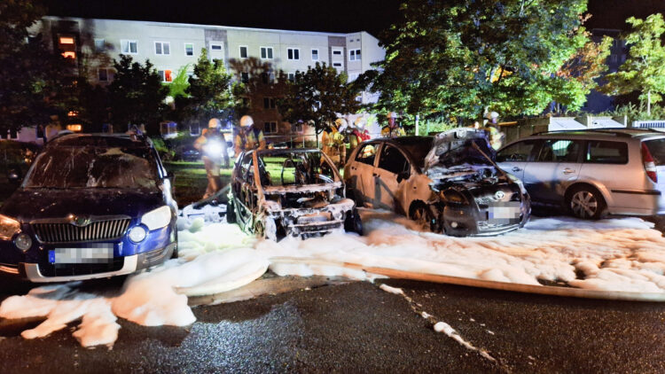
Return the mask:
{"type": "Polygon", "coordinates": [[[166,203],[159,190],[20,189],[0,207],[0,214],[21,222],[43,218],[63,218],[68,214],[137,217],[164,205],[166,203]]]}

